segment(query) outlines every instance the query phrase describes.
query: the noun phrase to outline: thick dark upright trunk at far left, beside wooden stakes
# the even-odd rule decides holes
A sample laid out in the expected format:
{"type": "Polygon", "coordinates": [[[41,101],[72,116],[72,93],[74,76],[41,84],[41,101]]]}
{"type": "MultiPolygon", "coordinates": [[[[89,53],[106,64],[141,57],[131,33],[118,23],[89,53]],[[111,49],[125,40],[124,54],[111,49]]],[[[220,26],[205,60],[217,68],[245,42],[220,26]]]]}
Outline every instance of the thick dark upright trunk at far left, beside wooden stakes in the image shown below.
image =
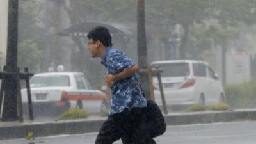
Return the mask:
{"type": "MultiPolygon", "coordinates": [[[[17,72],[17,41],[18,41],[18,0],[9,0],[8,36],[6,54],[6,72],[17,72]]],[[[18,120],[17,113],[17,76],[8,77],[4,90],[4,106],[2,120],[18,120]]]]}

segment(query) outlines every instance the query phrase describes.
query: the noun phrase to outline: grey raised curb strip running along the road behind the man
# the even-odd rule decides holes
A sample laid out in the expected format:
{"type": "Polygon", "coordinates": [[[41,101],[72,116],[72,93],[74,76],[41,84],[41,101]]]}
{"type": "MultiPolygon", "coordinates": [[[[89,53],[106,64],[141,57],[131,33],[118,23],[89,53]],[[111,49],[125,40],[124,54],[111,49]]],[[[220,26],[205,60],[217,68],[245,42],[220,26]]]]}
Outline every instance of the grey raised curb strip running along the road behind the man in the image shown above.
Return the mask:
{"type": "MultiPolygon", "coordinates": [[[[184,125],[212,122],[232,122],[256,120],[256,109],[240,109],[235,111],[204,111],[192,113],[168,113],[164,115],[167,125],[184,125]]],[[[88,117],[83,120],[61,120],[34,122],[0,122],[0,140],[26,138],[28,132],[35,137],[59,134],[81,134],[99,131],[106,117],[88,117]]]]}

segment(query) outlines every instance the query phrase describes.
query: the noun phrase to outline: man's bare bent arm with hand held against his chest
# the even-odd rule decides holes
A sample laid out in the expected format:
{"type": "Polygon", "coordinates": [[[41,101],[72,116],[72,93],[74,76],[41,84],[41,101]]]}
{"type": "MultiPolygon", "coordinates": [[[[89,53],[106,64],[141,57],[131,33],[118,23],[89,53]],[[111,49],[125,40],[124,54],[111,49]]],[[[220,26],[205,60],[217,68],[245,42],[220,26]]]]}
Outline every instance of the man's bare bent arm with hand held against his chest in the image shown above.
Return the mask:
{"type": "Polygon", "coordinates": [[[135,72],[138,72],[139,70],[140,70],[140,67],[138,65],[133,65],[131,68],[127,68],[122,72],[119,72],[118,74],[115,74],[115,75],[108,74],[107,76],[105,76],[106,84],[109,88],[111,88],[111,86],[113,86],[113,84],[116,81],[130,77],[135,72]]]}

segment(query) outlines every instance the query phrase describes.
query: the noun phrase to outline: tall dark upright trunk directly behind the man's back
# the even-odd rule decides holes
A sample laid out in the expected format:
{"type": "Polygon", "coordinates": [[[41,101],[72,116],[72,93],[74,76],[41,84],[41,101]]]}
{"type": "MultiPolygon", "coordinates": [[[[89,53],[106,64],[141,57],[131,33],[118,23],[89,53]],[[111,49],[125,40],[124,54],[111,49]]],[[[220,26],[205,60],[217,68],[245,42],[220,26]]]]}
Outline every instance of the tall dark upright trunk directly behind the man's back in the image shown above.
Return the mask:
{"type": "MultiPolygon", "coordinates": [[[[147,69],[147,42],[145,32],[145,3],[144,0],[138,0],[137,8],[137,42],[138,42],[138,62],[142,69],[147,69]]],[[[140,73],[141,85],[145,97],[150,99],[150,85],[148,81],[148,72],[140,73]]]]}

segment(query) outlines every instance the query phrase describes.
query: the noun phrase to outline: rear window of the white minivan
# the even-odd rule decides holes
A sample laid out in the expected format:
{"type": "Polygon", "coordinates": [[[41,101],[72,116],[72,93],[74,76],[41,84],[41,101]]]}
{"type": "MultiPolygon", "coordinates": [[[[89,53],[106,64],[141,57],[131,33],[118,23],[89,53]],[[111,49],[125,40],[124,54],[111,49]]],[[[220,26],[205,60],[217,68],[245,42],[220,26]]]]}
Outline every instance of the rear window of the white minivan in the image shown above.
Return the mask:
{"type": "Polygon", "coordinates": [[[189,76],[189,63],[161,63],[154,64],[152,67],[157,67],[163,69],[162,77],[183,77],[189,76]]]}

